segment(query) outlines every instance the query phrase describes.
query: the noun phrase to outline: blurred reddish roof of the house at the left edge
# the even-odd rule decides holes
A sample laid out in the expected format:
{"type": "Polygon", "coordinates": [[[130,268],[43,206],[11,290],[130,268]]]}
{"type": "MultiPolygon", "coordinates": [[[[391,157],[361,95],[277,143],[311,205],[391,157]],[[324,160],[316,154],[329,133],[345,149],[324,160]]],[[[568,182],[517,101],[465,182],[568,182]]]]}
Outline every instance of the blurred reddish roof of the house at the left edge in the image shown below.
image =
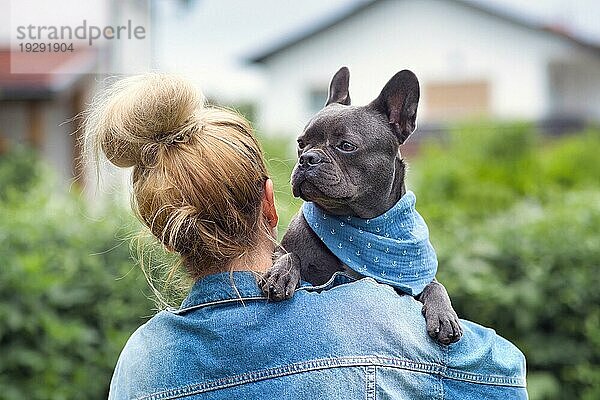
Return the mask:
{"type": "Polygon", "coordinates": [[[27,53],[0,49],[0,101],[52,98],[71,88],[81,74],[92,72],[96,62],[93,52],[27,53]]]}

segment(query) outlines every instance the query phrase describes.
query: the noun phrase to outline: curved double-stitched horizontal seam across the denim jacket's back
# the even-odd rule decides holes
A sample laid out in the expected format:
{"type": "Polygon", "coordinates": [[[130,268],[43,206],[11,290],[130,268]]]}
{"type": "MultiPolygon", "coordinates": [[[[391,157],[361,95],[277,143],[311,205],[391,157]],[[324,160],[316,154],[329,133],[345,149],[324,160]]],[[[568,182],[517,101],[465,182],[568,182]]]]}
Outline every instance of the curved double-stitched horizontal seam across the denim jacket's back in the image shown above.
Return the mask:
{"type": "MultiPolygon", "coordinates": [[[[246,372],[225,378],[219,378],[208,382],[191,384],[179,388],[156,392],[150,395],[137,397],[138,400],[167,400],[176,399],[190,395],[206,393],[214,390],[225,389],[243,384],[258,382],[262,380],[295,375],[303,372],[316,371],[330,368],[342,367],[392,367],[415,372],[424,372],[437,375],[441,378],[455,379],[465,382],[488,384],[495,386],[525,387],[525,379],[522,377],[507,377],[498,375],[480,375],[456,371],[452,368],[434,363],[410,361],[400,358],[389,357],[341,357],[325,358],[303,361],[281,367],[273,367],[262,370],[246,372]]],[[[375,377],[373,377],[375,379],[375,377]]]]}

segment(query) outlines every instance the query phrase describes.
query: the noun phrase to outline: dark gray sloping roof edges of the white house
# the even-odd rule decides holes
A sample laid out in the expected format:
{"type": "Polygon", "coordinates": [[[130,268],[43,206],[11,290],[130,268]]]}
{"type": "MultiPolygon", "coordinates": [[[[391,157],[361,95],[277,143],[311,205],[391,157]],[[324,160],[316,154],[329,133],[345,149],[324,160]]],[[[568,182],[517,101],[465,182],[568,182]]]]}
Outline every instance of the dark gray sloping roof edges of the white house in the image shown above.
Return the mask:
{"type": "MultiPolygon", "coordinates": [[[[279,43],[275,43],[271,47],[268,47],[262,51],[257,52],[256,54],[248,57],[247,61],[249,61],[251,63],[257,63],[257,64],[264,63],[267,60],[269,60],[271,57],[273,57],[291,47],[294,47],[295,45],[297,45],[307,39],[317,36],[320,33],[323,33],[325,31],[335,27],[336,25],[356,16],[357,14],[362,13],[363,11],[365,11],[383,1],[386,1],[386,0],[367,0],[367,1],[360,1],[360,2],[354,3],[350,7],[344,8],[344,9],[340,10],[339,12],[328,16],[328,18],[325,20],[318,21],[312,25],[307,26],[306,28],[304,28],[298,32],[288,35],[287,37],[284,38],[284,40],[280,41],[279,43]]],[[[598,56],[600,56],[600,46],[599,45],[593,44],[591,42],[585,41],[580,38],[577,38],[577,37],[571,35],[570,33],[568,33],[568,31],[566,31],[564,28],[562,28],[560,26],[536,24],[534,22],[528,21],[528,20],[526,20],[522,17],[516,16],[514,14],[509,14],[505,11],[500,11],[496,8],[490,8],[487,6],[483,6],[479,3],[473,3],[473,2],[470,2],[467,0],[445,0],[445,1],[455,3],[464,8],[481,13],[488,17],[502,20],[504,22],[507,22],[512,25],[516,25],[521,28],[530,29],[530,30],[537,31],[537,32],[543,32],[543,33],[547,33],[548,35],[553,35],[553,36],[559,37],[561,39],[569,41],[570,43],[572,43],[576,46],[584,47],[588,50],[591,50],[592,52],[594,52],[598,56]]]]}

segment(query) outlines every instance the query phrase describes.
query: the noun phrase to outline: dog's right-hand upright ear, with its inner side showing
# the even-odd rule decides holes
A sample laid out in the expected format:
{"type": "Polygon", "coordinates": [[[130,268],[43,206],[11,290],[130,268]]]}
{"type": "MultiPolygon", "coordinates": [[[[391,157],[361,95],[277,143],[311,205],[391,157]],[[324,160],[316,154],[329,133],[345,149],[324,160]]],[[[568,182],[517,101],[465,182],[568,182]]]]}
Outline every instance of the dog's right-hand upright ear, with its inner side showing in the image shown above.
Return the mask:
{"type": "Polygon", "coordinates": [[[386,115],[400,144],[414,132],[417,125],[419,80],[411,71],[398,72],[385,84],[383,90],[369,105],[386,115]]]}

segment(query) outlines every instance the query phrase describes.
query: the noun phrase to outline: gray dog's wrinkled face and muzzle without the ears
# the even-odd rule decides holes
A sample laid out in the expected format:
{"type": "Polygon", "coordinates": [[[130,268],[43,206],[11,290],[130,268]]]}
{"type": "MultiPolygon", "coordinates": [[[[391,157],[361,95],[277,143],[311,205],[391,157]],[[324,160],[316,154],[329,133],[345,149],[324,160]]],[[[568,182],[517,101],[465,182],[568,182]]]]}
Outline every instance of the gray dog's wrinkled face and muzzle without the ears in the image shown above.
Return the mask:
{"type": "Polygon", "coordinates": [[[381,114],[331,104],[298,138],[294,195],[334,214],[357,215],[363,202],[390,194],[397,153],[398,140],[381,114]]]}

